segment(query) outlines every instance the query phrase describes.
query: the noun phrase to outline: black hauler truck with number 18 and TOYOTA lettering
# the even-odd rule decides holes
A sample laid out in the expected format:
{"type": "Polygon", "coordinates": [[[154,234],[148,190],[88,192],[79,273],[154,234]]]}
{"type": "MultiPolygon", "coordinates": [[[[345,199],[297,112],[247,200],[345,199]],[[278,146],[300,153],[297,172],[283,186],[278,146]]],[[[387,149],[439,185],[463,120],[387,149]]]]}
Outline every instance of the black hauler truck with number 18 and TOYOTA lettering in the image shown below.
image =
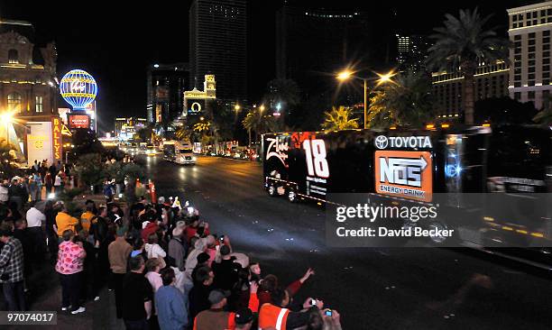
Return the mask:
{"type": "Polygon", "coordinates": [[[291,202],[363,193],[378,203],[437,204],[454,212],[432,225],[457,228],[464,245],[552,237],[548,127],[267,133],[262,152],[264,188],[291,202]]]}

